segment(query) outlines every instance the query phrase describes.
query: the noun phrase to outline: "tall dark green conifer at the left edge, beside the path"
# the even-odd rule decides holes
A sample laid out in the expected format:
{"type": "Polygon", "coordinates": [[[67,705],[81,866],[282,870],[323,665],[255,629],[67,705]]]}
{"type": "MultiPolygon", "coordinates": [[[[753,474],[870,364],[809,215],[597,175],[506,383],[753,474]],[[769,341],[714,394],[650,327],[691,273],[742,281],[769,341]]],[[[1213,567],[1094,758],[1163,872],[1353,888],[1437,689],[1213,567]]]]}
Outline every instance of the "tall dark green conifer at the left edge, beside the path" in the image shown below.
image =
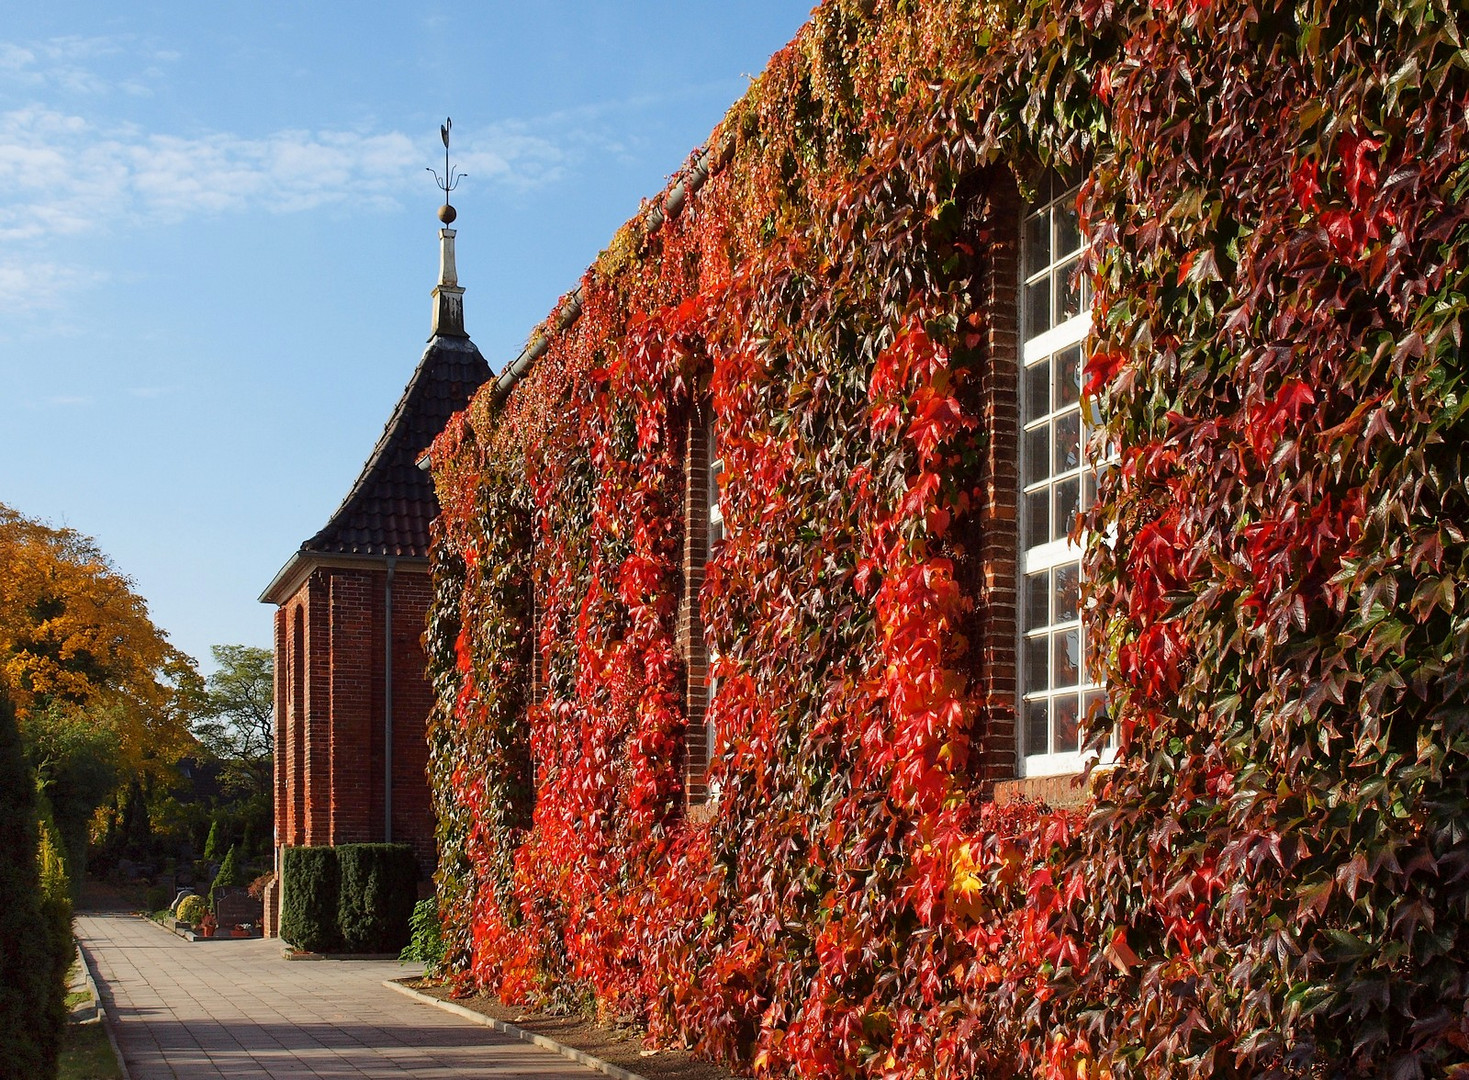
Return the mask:
{"type": "Polygon", "coordinates": [[[60,1024],[37,1002],[60,982],[48,948],[37,860],[35,777],[0,691],[0,1077],[56,1074],[60,1024]]]}

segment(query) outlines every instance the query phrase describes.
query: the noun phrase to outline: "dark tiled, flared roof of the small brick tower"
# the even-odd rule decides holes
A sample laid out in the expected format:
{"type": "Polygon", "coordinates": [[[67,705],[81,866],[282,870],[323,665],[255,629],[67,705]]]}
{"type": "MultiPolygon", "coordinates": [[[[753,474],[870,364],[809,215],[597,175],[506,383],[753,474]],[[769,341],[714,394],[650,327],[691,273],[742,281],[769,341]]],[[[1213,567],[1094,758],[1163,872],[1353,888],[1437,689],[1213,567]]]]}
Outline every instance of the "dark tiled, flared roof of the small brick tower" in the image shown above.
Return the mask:
{"type": "Polygon", "coordinates": [[[439,501],[419,458],[488,378],[489,364],[469,338],[432,338],[357,483],[301,551],[427,555],[439,501]]]}

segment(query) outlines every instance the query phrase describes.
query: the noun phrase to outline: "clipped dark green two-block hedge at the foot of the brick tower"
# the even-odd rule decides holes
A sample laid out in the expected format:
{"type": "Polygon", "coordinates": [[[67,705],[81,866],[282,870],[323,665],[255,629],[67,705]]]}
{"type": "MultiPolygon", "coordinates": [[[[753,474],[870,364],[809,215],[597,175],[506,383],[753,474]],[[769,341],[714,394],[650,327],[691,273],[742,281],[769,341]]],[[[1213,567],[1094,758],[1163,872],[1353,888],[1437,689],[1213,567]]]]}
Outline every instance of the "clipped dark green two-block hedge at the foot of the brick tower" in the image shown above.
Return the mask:
{"type": "Polygon", "coordinates": [[[398,952],[408,943],[419,864],[403,843],[286,848],[281,936],[310,952],[398,952]]]}

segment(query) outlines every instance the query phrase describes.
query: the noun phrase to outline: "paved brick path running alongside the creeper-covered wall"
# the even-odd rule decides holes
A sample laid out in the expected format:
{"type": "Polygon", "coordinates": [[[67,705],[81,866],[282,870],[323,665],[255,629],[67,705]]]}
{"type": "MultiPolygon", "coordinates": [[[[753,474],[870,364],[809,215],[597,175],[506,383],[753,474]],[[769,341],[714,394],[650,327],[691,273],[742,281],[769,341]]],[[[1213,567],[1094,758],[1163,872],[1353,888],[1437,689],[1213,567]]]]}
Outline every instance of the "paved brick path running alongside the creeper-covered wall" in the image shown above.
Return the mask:
{"type": "Polygon", "coordinates": [[[279,940],[185,942],[135,915],[78,915],[76,935],[132,1080],[605,1080],[389,990],[410,973],[391,961],[291,962],[279,940]]]}

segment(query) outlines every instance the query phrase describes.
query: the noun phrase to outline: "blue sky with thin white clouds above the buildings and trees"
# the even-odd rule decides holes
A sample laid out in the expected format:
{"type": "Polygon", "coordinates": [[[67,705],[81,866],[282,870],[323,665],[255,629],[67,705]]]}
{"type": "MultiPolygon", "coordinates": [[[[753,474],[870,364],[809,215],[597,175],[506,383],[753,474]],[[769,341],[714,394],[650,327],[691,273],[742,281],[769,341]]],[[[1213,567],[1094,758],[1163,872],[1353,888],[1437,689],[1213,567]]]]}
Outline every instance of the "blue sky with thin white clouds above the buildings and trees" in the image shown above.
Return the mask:
{"type": "Polygon", "coordinates": [[[427,336],[444,116],[498,370],[809,6],[10,4],[0,503],[95,536],[206,669],[269,645],[427,336]]]}

